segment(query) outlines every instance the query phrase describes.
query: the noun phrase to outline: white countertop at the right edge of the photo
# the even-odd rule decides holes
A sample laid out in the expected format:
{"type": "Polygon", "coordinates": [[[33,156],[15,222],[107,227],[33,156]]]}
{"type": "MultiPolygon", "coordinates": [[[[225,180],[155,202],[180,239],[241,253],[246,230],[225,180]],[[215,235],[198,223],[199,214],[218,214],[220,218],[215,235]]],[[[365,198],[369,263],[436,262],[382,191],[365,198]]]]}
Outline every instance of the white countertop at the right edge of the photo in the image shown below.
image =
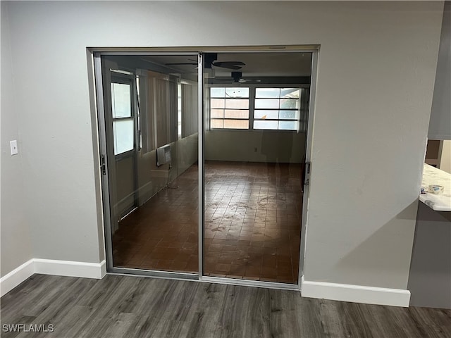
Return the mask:
{"type": "Polygon", "coordinates": [[[429,184],[443,186],[443,194],[420,194],[420,201],[435,211],[451,211],[451,174],[424,163],[421,187],[427,192],[429,184]]]}

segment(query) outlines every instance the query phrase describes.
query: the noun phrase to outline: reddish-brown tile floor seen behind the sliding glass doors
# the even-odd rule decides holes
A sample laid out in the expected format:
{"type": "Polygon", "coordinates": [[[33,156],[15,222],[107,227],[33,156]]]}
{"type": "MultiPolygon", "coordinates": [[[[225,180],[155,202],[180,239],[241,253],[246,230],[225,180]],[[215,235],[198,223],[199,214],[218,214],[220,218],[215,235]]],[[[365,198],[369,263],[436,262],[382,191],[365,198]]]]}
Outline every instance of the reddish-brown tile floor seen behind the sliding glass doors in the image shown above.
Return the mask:
{"type": "MultiPolygon", "coordinates": [[[[205,164],[204,273],[296,283],[301,166],[205,164]]],[[[197,272],[197,165],[121,221],[115,266],[197,272]]]]}

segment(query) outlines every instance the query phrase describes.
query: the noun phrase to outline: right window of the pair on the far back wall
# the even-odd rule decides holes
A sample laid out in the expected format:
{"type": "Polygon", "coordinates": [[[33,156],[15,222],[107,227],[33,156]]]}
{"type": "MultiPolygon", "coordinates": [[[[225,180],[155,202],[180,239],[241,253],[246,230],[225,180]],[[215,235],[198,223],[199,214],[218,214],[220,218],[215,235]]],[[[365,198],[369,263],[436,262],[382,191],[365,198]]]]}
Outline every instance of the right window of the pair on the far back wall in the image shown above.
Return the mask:
{"type": "Polygon", "coordinates": [[[256,88],[254,129],[298,130],[299,88],[256,88]]]}

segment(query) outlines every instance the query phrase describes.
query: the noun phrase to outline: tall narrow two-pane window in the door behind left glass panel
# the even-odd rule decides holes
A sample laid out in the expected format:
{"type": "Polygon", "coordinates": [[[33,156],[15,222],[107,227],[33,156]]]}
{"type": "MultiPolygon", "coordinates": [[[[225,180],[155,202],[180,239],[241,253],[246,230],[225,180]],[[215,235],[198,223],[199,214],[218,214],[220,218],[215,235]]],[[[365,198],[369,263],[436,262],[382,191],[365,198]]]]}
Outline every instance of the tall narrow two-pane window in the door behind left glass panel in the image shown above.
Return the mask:
{"type": "Polygon", "coordinates": [[[111,80],[111,111],[113,113],[114,155],[134,148],[135,117],[132,110],[132,80],[111,80]]]}

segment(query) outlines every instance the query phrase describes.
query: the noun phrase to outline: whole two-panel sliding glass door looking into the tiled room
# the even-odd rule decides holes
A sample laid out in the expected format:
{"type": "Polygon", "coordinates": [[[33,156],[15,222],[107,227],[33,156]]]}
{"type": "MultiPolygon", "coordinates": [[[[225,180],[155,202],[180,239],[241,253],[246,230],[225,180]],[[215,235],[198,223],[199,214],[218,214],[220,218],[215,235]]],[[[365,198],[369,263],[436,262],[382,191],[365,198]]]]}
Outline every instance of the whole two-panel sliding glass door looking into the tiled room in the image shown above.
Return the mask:
{"type": "Polygon", "coordinates": [[[297,287],[312,55],[95,56],[109,272],[297,287]]]}

